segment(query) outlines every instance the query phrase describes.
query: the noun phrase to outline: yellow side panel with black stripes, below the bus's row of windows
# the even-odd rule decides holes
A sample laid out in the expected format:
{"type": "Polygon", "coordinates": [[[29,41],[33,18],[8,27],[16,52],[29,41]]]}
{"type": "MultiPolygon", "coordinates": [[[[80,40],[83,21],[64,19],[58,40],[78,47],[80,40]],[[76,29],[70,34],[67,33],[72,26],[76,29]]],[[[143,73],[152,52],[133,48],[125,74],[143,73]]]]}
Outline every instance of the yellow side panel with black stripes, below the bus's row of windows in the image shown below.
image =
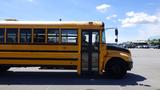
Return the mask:
{"type": "Polygon", "coordinates": [[[0,45],[0,64],[77,65],[77,45],[0,45]]]}

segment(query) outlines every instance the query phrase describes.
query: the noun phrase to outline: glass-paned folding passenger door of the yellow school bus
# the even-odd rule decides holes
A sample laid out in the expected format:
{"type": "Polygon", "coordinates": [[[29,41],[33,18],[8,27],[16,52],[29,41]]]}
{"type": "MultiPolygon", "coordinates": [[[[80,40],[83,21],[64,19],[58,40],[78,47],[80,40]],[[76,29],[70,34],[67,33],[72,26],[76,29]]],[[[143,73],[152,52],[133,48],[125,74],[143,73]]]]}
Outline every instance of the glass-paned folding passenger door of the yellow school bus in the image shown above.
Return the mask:
{"type": "Polygon", "coordinates": [[[81,73],[98,74],[99,70],[99,31],[82,30],[81,73]]]}

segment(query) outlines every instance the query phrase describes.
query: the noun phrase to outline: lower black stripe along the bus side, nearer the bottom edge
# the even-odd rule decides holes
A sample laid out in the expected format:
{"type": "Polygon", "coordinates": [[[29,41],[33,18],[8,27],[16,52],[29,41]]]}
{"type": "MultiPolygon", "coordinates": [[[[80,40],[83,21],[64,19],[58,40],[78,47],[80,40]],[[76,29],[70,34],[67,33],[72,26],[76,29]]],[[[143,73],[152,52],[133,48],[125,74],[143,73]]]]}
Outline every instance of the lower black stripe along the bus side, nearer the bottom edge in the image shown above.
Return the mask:
{"type": "Polygon", "coordinates": [[[78,60],[78,58],[15,58],[0,57],[0,60],[78,60]]]}

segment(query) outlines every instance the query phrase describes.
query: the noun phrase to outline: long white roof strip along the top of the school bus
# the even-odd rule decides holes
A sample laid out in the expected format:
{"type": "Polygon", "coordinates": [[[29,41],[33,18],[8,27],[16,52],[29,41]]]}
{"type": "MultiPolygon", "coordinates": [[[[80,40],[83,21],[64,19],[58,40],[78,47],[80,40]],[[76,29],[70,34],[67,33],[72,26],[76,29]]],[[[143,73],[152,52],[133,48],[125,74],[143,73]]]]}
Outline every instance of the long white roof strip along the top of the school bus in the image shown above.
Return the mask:
{"type": "Polygon", "coordinates": [[[102,26],[101,21],[0,21],[0,25],[95,25],[102,26]]]}

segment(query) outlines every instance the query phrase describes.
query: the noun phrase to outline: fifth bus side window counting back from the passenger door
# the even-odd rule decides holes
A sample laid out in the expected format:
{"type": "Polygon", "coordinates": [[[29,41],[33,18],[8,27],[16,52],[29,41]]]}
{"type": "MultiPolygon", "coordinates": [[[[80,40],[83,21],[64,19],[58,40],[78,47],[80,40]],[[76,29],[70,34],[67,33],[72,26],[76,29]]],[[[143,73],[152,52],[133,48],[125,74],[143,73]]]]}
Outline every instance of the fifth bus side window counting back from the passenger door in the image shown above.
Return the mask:
{"type": "Polygon", "coordinates": [[[17,33],[18,29],[17,28],[7,28],[6,29],[6,43],[17,43],[17,33]]]}

